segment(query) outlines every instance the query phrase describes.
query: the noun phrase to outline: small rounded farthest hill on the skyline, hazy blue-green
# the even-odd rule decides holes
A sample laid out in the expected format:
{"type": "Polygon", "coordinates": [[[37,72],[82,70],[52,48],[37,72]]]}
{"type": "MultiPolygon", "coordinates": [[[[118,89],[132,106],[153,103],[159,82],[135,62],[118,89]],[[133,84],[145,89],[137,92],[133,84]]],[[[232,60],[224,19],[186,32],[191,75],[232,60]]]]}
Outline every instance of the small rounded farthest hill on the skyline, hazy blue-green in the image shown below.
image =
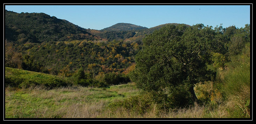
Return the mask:
{"type": "Polygon", "coordinates": [[[138,26],[130,23],[117,23],[111,27],[101,29],[101,31],[130,31],[130,30],[141,30],[148,29],[147,27],[138,26]]]}

